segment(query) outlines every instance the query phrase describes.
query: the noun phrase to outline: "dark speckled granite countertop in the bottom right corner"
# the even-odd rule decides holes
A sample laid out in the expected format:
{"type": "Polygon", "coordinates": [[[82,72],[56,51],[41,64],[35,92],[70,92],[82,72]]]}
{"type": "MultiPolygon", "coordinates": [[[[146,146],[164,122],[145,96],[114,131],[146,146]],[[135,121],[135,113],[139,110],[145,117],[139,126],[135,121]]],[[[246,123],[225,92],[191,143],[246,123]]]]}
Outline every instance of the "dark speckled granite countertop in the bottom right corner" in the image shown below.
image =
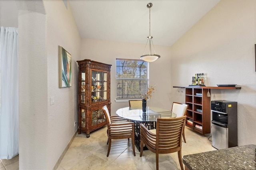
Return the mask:
{"type": "Polygon", "coordinates": [[[185,155],[182,161],[189,170],[256,170],[256,145],[185,155]]]}

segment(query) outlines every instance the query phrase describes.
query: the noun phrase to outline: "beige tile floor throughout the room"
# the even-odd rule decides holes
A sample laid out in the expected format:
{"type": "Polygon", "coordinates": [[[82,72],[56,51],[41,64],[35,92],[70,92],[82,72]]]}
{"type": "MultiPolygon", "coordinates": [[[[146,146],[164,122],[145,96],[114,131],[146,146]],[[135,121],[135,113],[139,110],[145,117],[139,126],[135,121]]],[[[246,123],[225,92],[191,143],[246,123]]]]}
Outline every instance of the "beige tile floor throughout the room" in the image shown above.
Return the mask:
{"type": "MultiPolygon", "coordinates": [[[[58,170],[155,170],[156,156],[144,150],[142,157],[135,148],[132,154],[131,142],[127,139],[112,140],[110,154],[106,157],[108,138],[106,127],[100,128],[86,138],[84,133],[77,134],[66,155],[60,162],[58,170]]],[[[208,140],[209,136],[201,135],[190,128],[185,128],[186,143],[182,142],[182,156],[199,152],[216,150],[208,140]]],[[[211,139],[211,138],[210,138],[211,139]]],[[[18,156],[10,160],[1,160],[0,170],[18,170],[18,156]]],[[[160,154],[160,170],[180,170],[178,153],[160,154]]]]}

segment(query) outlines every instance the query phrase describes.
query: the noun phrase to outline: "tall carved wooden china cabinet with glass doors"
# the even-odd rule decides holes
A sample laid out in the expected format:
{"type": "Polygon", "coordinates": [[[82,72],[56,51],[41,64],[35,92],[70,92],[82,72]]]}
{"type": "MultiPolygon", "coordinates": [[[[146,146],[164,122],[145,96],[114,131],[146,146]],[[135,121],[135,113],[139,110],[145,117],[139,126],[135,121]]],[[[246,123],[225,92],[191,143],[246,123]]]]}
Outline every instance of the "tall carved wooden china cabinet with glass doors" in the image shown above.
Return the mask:
{"type": "MultiPolygon", "coordinates": [[[[78,134],[106,125],[102,107],[110,111],[110,68],[112,65],[84,59],[77,61],[78,73],[78,134]]],[[[110,112],[111,113],[111,112],[110,112]]]]}

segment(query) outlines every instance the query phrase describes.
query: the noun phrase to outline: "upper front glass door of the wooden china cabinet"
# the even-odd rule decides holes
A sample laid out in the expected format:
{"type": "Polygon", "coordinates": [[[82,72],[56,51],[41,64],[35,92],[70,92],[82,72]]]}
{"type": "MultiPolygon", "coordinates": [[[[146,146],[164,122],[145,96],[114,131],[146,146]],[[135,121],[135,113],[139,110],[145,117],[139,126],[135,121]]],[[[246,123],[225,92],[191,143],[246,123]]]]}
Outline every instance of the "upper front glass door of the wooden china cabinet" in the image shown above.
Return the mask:
{"type": "Polygon", "coordinates": [[[91,102],[107,100],[107,72],[92,70],[92,99],[91,102]]]}

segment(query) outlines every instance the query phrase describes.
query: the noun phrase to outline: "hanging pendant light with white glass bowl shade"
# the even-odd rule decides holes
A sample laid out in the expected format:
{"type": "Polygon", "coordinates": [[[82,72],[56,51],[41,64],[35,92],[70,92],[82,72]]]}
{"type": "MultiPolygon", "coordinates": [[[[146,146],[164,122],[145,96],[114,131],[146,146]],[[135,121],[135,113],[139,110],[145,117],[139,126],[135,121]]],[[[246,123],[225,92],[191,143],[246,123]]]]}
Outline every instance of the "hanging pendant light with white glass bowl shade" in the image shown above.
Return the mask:
{"type": "Polygon", "coordinates": [[[144,55],[145,53],[145,50],[146,50],[146,47],[144,49],[144,53],[143,55],[140,57],[140,59],[144,60],[144,61],[147,61],[147,62],[152,62],[152,61],[156,61],[158,58],[160,58],[160,55],[156,54],[156,50],[154,48],[154,44],[153,44],[153,41],[152,41],[152,36],[150,35],[150,8],[153,6],[152,3],[148,3],[147,4],[147,7],[149,8],[149,36],[147,37],[148,38],[148,41],[146,43],[146,47],[147,47],[147,44],[149,45],[149,54],[146,54],[144,55]],[[149,43],[148,43],[149,42],[149,43]],[[152,54],[152,51],[151,51],[151,44],[153,46],[153,49],[154,49],[154,52],[155,54],[152,54]]]}

